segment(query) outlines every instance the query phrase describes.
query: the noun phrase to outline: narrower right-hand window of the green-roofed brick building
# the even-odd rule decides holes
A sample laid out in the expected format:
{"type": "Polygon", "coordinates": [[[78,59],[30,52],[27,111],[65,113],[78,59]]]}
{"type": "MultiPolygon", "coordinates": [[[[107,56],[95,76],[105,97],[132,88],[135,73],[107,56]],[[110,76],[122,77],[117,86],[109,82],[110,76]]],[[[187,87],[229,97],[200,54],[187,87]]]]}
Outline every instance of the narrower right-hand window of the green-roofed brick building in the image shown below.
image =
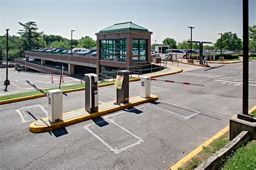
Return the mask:
{"type": "Polygon", "coordinates": [[[132,61],[147,61],[147,40],[132,39],[132,61]]]}

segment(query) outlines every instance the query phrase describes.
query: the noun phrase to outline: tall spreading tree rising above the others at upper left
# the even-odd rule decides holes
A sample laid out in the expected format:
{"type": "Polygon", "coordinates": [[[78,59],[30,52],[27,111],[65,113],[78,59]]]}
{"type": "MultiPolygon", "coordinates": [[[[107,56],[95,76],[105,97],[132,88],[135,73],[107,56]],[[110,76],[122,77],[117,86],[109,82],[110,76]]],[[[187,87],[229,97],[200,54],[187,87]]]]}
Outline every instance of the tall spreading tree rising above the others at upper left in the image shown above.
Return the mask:
{"type": "Polygon", "coordinates": [[[18,30],[18,34],[21,35],[23,45],[22,51],[26,49],[39,48],[39,37],[44,33],[38,32],[36,22],[27,22],[25,24],[18,22],[19,25],[23,26],[23,30],[18,30]]]}

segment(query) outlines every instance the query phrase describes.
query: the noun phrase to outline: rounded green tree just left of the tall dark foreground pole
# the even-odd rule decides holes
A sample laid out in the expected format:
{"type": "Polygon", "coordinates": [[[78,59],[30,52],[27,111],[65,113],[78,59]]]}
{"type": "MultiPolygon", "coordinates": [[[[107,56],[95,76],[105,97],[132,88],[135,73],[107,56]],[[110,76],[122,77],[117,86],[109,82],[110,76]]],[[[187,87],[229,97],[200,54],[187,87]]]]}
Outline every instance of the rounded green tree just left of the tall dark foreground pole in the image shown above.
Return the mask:
{"type": "MultiPolygon", "coordinates": [[[[222,49],[242,50],[242,40],[237,37],[237,33],[225,32],[223,34],[222,49]]],[[[215,49],[220,49],[221,38],[215,43],[215,49]]]]}

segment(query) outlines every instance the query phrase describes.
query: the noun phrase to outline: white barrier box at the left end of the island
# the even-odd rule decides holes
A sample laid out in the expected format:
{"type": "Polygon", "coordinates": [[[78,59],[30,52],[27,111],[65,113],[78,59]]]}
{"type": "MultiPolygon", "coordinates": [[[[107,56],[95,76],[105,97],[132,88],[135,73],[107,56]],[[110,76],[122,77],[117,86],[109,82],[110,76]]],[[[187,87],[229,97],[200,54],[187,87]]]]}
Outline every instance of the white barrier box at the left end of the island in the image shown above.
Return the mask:
{"type": "Polygon", "coordinates": [[[48,119],[51,123],[62,121],[62,90],[49,90],[48,91],[48,119]]]}

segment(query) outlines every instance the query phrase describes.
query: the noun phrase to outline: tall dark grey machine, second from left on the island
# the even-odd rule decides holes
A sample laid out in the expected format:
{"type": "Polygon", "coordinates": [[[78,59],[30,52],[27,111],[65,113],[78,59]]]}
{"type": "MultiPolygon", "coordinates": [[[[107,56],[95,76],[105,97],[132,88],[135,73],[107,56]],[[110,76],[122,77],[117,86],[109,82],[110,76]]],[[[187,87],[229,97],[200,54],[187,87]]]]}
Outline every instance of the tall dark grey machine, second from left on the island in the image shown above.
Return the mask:
{"type": "Polygon", "coordinates": [[[98,75],[85,74],[85,110],[89,113],[98,111],[98,75]]]}

